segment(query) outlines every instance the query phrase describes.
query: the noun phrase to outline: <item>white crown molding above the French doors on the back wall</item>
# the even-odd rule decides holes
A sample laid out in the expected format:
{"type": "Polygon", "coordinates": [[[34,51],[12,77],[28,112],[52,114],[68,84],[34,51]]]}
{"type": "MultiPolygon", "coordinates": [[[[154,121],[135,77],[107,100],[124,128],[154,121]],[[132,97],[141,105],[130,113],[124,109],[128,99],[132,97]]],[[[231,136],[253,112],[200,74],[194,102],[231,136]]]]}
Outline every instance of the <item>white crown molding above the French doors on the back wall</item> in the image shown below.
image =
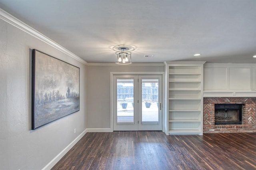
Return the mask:
{"type": "Polygon", "coordinates": [[[164,66],[164,63],[132,63],[127,65],[120,65],[116,63],[87,63],[86,65],[93,65],[93,66],[164,66]]]}

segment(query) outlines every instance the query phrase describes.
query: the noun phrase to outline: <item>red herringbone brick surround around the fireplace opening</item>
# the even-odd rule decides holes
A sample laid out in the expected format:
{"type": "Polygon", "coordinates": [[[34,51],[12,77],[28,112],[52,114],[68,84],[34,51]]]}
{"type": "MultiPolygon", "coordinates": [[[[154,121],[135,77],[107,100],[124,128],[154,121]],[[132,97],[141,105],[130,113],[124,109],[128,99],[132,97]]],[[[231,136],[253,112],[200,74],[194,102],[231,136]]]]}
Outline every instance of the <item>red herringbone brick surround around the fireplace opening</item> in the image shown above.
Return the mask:
{"type": "Polygon", "coordinates": [[[204,97],[204,133],[256,132],[256,97],[204,97]],[[214,125],[215,104],[244,104],[242,125],[214,125]]]}

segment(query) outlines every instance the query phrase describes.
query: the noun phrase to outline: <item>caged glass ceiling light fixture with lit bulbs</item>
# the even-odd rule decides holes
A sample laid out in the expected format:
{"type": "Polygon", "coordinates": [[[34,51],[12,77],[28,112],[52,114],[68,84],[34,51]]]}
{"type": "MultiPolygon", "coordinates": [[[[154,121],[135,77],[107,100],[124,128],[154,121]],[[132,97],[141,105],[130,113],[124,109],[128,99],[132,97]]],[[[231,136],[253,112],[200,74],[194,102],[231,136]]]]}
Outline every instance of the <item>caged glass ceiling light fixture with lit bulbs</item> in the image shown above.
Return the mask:
{"type": "Polygon", "coordinates": [[[129,50],[128,47],[126,46],[121,46],[118,48],[120,51],[116,51],[117,55],[117,61],[116,64],[120,65],[127,65],[132,63],[132,53],[129,50]]]}

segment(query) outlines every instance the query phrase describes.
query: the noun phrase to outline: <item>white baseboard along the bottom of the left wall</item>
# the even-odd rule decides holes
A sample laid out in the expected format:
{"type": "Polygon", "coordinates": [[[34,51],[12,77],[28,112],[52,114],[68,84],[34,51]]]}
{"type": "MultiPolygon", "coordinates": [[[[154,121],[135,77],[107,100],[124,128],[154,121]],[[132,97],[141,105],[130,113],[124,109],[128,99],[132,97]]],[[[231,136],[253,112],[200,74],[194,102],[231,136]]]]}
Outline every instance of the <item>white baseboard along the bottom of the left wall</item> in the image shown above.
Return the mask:
{"type": "Polygon", "coordinates": [[[64,148],[57,156],[55,156],[42,170],[50,170],[85,134],[85,129],[79,136],[77,136],[66,148],[64,148]]]}

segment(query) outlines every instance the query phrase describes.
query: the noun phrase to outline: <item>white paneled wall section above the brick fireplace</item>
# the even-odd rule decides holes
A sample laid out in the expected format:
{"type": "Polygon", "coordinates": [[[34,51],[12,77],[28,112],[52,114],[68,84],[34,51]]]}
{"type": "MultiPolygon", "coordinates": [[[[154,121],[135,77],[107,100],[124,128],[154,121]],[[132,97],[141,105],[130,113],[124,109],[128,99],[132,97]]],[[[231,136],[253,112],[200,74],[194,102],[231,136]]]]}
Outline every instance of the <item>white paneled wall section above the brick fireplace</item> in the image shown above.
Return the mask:
{"type": "Polygon", "coordinates": [[[240,97],[240,92],[245,92],[242,97],[250,97],[250,92],[256,91],[255,76],[255,63],[207,63],[203,71],[205,97],[240,97]]]}

